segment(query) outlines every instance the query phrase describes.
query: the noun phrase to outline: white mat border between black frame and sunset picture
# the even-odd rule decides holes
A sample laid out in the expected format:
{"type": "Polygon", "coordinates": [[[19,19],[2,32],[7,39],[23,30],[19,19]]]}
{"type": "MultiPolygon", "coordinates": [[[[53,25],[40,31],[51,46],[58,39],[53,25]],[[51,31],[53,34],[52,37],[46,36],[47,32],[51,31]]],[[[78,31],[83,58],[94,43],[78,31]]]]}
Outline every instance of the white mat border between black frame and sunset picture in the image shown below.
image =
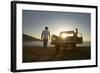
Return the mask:
{"type": "Polygon", "coordinates": [[[59,7],[59,6],[45,6],[45,5],[28,5],[28,4],[17,4],[17,70],[22,69],[39,69],[39,68],[53,68],[53,67],[71,67],[71,66],[85,66],[95,65],[96,59],[96,40],[95,40],[95,13],[96,10],[93,8],[81,8],[81,7],[59,7]],[[82,12],[91,13],[91,60],[73,60],[73,61],[55,61],[55,62],[32,62],[22,63],[22,10],[42,10],[42,11],[62,11],[62,12],[82,12]]]}

